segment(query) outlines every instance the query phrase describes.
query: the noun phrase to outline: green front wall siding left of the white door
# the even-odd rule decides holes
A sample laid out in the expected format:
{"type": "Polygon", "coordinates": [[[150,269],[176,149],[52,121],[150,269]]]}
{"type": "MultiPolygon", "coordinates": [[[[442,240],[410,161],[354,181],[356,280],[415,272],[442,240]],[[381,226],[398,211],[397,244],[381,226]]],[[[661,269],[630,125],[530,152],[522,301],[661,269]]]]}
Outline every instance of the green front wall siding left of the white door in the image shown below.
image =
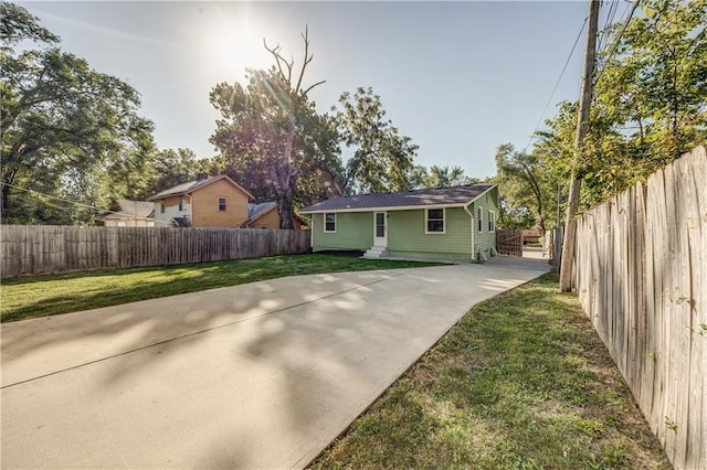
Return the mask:
{"type": "Polygon", "coordinates": [[[373,245],[373,216],[370,212],[340,212],[336,215],[336,233],[324,232],[324,214],[313,214],[313,250],[358,249],[373,245]]]}

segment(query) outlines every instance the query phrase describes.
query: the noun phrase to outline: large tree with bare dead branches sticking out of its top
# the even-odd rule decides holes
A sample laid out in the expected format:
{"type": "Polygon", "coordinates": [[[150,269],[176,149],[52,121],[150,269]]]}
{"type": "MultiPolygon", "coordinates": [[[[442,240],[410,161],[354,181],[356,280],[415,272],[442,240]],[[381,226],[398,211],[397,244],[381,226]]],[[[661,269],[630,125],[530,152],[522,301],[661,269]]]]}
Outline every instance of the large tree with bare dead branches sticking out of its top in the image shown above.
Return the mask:
{"type": "Polygon", "coordinates": [[[279,209],[281,228],[293,227],[297,195],[316,192],[318,178],[336,178],[341,167],[338,133],[327,115],[318,115],[307,96],[317,85],[305,85],[312,62],[308,33],[303,34],[304,60],[295,67],[281,47],[265,47],[275,65],[267,71],[249,71],[245,86],[217,85],[211,103],[221,113],[211,142],[221,149],[220,167],[239,178],[254,195],[273,196],[279,209]]]}

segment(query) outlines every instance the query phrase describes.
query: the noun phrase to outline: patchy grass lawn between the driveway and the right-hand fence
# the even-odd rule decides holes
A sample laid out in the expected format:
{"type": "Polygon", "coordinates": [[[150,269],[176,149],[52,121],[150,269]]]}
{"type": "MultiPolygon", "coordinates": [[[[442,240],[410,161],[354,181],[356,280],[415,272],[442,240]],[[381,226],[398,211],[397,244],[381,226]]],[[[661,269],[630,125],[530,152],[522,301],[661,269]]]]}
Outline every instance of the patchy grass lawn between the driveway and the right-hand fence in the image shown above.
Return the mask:
{"type": "Polygon", "coordinates": [[[474,307],[312,467],[669,469],[557,280],[474,307]]]}

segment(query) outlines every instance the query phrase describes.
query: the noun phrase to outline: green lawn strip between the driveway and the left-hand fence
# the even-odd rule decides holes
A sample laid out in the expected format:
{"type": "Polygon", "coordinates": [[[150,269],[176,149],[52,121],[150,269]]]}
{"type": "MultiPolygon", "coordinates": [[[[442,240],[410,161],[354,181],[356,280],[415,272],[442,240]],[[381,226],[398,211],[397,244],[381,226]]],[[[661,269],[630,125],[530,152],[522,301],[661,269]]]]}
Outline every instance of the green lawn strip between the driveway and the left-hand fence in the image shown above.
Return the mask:
{"type": "Polygon", "coordinates": [[[433,266],[429,263],[288,255],[236,261],[3,279],[1,320],[46,317],[285,276],[433,266]]]}

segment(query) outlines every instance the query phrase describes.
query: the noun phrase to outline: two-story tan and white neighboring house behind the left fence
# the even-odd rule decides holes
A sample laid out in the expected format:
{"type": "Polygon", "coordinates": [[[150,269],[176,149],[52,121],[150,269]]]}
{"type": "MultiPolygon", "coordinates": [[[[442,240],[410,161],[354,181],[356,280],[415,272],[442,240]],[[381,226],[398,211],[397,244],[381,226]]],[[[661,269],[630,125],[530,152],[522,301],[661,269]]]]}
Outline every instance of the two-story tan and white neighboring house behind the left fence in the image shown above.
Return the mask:
{"type": "Polygon", "coordinates": [[[253,195],[226,175],[179,184],[148,197],[157,226],[238,228],[249,220],[253,195]]]}

